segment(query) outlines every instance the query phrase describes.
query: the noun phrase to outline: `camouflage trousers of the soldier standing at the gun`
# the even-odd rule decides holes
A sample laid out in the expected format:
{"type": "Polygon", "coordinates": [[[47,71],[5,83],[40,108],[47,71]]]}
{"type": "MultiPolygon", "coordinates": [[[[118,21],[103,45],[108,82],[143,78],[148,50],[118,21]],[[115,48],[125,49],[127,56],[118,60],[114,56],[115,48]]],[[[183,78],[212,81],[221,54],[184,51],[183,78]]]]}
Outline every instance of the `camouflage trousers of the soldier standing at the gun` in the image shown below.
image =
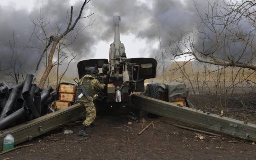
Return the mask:
{"type": "Polygon", "coordinates": [[[89,126],[96,118],[96,110],[93,103],[81,102],[81,105],[86,109],[86,119],[82,124],[89,126]]]}

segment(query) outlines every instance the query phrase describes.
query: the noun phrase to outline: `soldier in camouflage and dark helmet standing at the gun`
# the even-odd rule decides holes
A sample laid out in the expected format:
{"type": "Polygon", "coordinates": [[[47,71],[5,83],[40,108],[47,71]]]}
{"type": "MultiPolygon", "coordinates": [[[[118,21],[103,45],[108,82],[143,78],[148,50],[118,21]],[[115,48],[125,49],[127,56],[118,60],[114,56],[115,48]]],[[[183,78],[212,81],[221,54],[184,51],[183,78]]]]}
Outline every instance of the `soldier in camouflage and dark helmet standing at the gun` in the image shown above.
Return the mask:
{"type": "Polygon", "coordinates": [[[87,94],[90,96],[90,100],[87,100],[86,96],[82,96],[79,100],[82,106],[86,109],[86,120],[82,123],[83,126],[80,128],[78,135],[88,137],[89,134],[86,133],[86,128],[92,124],[96,117],[96,110],[92,102],[92,96],[94,95],[94,89],[102,90],[106,85],[101,84],[96,78],[98,70],[96,67],[89,67],[87,69],[86,75],[80,79],[79,84],[84,86],[87,94]]]}

